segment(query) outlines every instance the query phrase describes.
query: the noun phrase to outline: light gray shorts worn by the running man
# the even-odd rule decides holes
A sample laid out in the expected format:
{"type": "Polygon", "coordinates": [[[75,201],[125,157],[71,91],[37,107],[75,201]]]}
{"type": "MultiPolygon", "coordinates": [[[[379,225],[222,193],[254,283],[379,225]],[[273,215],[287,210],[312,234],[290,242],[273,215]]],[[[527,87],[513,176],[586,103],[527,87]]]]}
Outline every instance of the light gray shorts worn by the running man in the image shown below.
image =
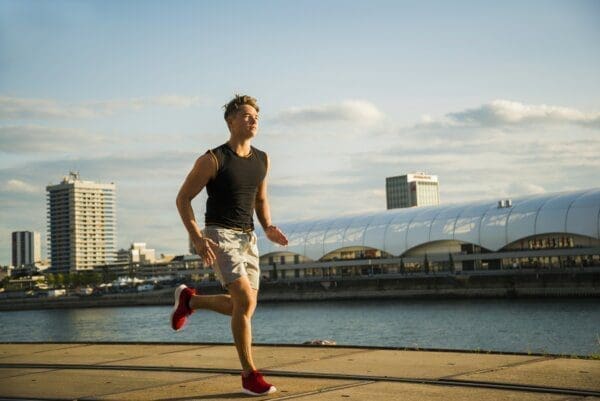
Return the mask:
{"type": "Polygon", "coordinates": [[[212,268],[221,285],[227,288],[233,281],[246,276],[250,286],[258,290],[260,267],[256,234],[219,226],[206,226],[202,233],[219,245],[212,268]]]}

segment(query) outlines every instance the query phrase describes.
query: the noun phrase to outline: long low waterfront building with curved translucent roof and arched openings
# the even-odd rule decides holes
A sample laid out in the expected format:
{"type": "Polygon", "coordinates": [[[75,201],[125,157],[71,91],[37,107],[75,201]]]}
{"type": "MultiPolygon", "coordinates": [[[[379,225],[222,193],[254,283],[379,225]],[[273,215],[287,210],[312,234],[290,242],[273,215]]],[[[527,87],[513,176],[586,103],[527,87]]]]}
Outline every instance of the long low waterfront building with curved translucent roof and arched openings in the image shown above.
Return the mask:
{"type": "Polygon", "coordinates": [[[279,226],[288,235],[287,247],[257,231],[261,265],[298,270],[289,273],[294,276],[310,274],[301,266],[349,261],[349,269],[373,259],[390,261],[392,271],[600,265],[600,189],[279,226]]]}

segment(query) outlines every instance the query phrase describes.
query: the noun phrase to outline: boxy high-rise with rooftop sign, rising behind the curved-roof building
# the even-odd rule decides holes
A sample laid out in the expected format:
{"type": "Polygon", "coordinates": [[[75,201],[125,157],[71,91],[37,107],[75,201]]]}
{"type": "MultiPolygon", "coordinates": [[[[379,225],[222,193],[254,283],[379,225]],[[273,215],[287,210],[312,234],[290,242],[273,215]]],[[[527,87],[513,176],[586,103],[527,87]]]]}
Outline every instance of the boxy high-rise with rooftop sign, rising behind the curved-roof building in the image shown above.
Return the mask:
{"type": "Polygon", "coordinates": [[[439,183],[436,175],[412,173],[385,179],[388,209],[440,204],[439,183]]]}

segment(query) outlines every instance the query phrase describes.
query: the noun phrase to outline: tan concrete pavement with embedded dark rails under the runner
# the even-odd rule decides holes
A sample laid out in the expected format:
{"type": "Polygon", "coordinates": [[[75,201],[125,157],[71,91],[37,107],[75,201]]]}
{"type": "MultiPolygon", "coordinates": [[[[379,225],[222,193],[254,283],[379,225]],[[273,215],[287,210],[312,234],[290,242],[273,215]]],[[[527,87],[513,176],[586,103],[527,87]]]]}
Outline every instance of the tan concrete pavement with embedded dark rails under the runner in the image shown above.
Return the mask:
{"type": "MultiPolygon", "coordinates": [[[[255,346],[282,400],[600,400],[600,360],[255,346]]],[[[0,344],[0,400],[239,400],[223,344],[0,344]]]]}

